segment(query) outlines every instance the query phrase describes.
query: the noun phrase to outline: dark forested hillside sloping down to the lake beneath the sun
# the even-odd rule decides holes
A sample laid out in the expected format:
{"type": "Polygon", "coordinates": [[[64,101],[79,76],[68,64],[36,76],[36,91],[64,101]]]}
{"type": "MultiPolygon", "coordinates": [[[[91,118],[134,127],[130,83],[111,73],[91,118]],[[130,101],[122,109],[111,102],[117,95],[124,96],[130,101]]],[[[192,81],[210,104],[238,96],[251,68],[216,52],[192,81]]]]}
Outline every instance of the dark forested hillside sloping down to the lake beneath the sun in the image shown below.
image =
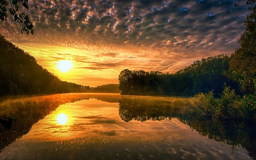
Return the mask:
{"type": "Polygon", "coordinates": [[[37,64],[28,52],[16,47],[0,34],[0,96],[70,92],[118,92],[117,84],[90,87],[61,81],[37,64]]]}

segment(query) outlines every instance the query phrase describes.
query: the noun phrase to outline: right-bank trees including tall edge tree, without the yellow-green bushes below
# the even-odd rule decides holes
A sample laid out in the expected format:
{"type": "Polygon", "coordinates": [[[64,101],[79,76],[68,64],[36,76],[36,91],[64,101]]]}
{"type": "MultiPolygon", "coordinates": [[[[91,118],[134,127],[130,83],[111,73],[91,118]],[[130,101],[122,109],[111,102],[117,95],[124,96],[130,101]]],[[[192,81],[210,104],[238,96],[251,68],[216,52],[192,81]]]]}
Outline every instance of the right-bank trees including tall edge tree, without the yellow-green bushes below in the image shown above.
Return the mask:
{"type": "Polygon", "coordinates": [[[245,31],[231,54],[197,60],[174,74],[159,71],[145,72],[124,69],[119,74],[119,90],[127,95],[193,96],[213,90],[220,97],[225,86],[237,94],[256,92],[256,10],[247,16],[245,31]]]}

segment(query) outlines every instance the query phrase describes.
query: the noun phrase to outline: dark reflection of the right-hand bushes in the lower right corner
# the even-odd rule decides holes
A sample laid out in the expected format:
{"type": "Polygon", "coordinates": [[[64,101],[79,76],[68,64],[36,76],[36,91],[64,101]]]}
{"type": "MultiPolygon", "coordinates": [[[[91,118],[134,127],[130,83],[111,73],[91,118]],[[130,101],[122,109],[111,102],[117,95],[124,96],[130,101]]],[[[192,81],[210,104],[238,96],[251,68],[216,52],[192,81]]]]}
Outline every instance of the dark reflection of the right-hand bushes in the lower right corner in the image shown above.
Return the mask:
{"type": "Polygon", "coordinates": [[[196,130],[203,136],[218,142],[227,143],[232,150],[242,147],[247,150],[252,159],[256,159],[256,124],[244,121],[199,119],[199,113],[194,115],[190,121],[179,119],[188,124],[191,129],[196,130]]]}

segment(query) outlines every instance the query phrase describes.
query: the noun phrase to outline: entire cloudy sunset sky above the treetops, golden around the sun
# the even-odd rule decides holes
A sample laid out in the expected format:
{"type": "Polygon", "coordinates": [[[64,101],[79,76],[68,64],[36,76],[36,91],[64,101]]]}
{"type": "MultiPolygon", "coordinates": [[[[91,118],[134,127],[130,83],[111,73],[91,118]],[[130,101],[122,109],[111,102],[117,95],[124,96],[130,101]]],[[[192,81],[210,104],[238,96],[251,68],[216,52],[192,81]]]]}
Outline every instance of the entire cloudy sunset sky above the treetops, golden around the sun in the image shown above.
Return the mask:
{"type": "MultiPolygon", "coordinates": [[[[118,84],[130,70],[175,73],[196,60],[232,53],[250,14],[234,0],[29,0],[34,35],[0,22],[0,33],[60,80],[118,84]],[[61,72],[61,61],[72,63],[61,72]]],[[[64,64],[67,66],[67,64],[64,64]]]]}

